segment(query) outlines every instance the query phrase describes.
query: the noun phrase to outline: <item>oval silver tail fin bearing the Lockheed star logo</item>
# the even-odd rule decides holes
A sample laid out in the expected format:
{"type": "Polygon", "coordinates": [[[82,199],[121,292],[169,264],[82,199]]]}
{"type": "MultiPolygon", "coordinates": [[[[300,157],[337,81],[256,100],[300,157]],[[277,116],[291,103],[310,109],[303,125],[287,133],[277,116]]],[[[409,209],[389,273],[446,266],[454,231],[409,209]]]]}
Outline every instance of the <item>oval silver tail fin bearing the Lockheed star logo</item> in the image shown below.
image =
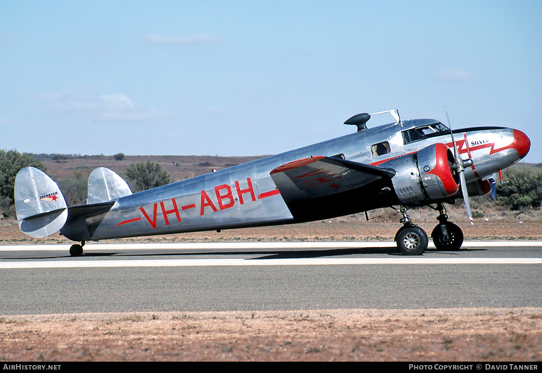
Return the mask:
{"type": "Polygon", "coordinates": [[[59,231],[66,219],[66,201],[56,182],[34,167],[21,169],[15,178],[15,210],[21,231],[43,238],[59,231]]]}

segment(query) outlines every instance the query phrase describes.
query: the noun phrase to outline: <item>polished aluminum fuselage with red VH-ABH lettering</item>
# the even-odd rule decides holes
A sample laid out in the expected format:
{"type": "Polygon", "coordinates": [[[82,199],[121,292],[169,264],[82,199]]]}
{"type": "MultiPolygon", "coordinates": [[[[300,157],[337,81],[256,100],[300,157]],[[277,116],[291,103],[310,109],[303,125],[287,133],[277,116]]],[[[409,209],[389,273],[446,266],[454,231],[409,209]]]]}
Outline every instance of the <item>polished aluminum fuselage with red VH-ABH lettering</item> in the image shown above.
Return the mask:
{"type": "MultiPolygon", "coordinates": [[[[270,176],[273,169],[311,156],[339,154],[349,161],[379,165],[394,157],[415,153],[434,143],[453,147],[449,131],[424,140],[403,143],[402,131],[436,122],[431,119],[418,119],[368,128],[333,140],[128,195],[115,201],[104,215],[87,218],[95,220],[90,237],[79,236],[69,225],[64,227],[62,233],[74,241],[97,241],[106,238],[296,223],[270,176]],[[389,142],[390,152],[373,156],[371,146],[383,141],[389,142]]],[[[460,156],[474,161],[474,168],[466,170],[467,182],[487,179],[521,158],[513,147],[513,130],[509,128],[455,130],[454,140],[460,156]]],[[[360,198],[370,199],[371,196],[360,198]]],[[[397,200],[390,200],[386,206],[396,204],[397,200]]],[[[377,207],[385,206],[372,206],[377,207]]],[[[92,225],[93,222],[87,220],[87,223],[92,225]]]]}

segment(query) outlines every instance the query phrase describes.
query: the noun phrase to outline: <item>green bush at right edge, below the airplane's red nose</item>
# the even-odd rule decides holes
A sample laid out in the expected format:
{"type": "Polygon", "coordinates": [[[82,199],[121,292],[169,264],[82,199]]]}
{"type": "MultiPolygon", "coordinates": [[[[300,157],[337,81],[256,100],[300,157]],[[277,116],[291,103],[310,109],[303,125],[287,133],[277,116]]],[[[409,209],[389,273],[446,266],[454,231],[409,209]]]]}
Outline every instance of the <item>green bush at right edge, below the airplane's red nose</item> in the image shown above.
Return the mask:
{"type": "Polygon", "coordinates": [[[506,184],[497,184],[497,201],[512,210],[539,208],[542,204],[542,169],[512,167],[502,172],[506,184]]]}

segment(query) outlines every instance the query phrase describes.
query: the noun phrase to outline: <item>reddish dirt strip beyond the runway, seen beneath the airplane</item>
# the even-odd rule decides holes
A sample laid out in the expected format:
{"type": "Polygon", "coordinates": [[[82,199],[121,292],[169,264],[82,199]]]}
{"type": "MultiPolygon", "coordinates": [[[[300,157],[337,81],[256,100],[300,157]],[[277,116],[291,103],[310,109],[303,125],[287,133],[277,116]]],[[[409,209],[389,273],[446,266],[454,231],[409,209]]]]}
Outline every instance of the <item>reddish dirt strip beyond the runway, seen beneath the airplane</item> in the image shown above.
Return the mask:
{"type": "MultiPolygon", "coordinates": [[[[468,224],[464,212],[453,211],[456,215],[451,221],[461,226],[465,241],[529,241],[542,240],[542,218],[521,217],[486,222],[475,219],[475,224],[468,224]]],[[[423,211],[411,213],[412,219],[430,235],[437,224],[434,214],[426,217],[423,211]]],[[[100,243],[128,242],[280,242],[280,241],[393,241],[396,231],[401,227],[398,218],[376,218],[365,221],[365,215],[335,218],[318,222],[231,229],[221,232],[190,232],[166,236],[148,236],[104,240],[100,243]],[[391,221],[390,221],[391,220],[391,221]]],[[[61,244],[68,247],[73,242],[58,233],[45,238],[31,238],[22,233],[14,219],[0,220],[0,245],[18,244],[61,244]]]]}

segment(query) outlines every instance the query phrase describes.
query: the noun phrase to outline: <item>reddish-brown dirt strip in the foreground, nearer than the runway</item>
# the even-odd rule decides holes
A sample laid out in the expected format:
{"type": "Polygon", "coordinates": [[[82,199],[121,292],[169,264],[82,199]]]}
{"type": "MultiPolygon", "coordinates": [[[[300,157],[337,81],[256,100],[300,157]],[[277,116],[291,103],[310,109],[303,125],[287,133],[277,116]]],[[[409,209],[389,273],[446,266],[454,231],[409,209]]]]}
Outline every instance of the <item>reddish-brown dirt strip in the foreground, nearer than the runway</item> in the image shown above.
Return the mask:
{"type": "Polygon", "coordinates": [[[542,359],[542,309],[332,309],[0,319],[0,361],[542,359]]]}

